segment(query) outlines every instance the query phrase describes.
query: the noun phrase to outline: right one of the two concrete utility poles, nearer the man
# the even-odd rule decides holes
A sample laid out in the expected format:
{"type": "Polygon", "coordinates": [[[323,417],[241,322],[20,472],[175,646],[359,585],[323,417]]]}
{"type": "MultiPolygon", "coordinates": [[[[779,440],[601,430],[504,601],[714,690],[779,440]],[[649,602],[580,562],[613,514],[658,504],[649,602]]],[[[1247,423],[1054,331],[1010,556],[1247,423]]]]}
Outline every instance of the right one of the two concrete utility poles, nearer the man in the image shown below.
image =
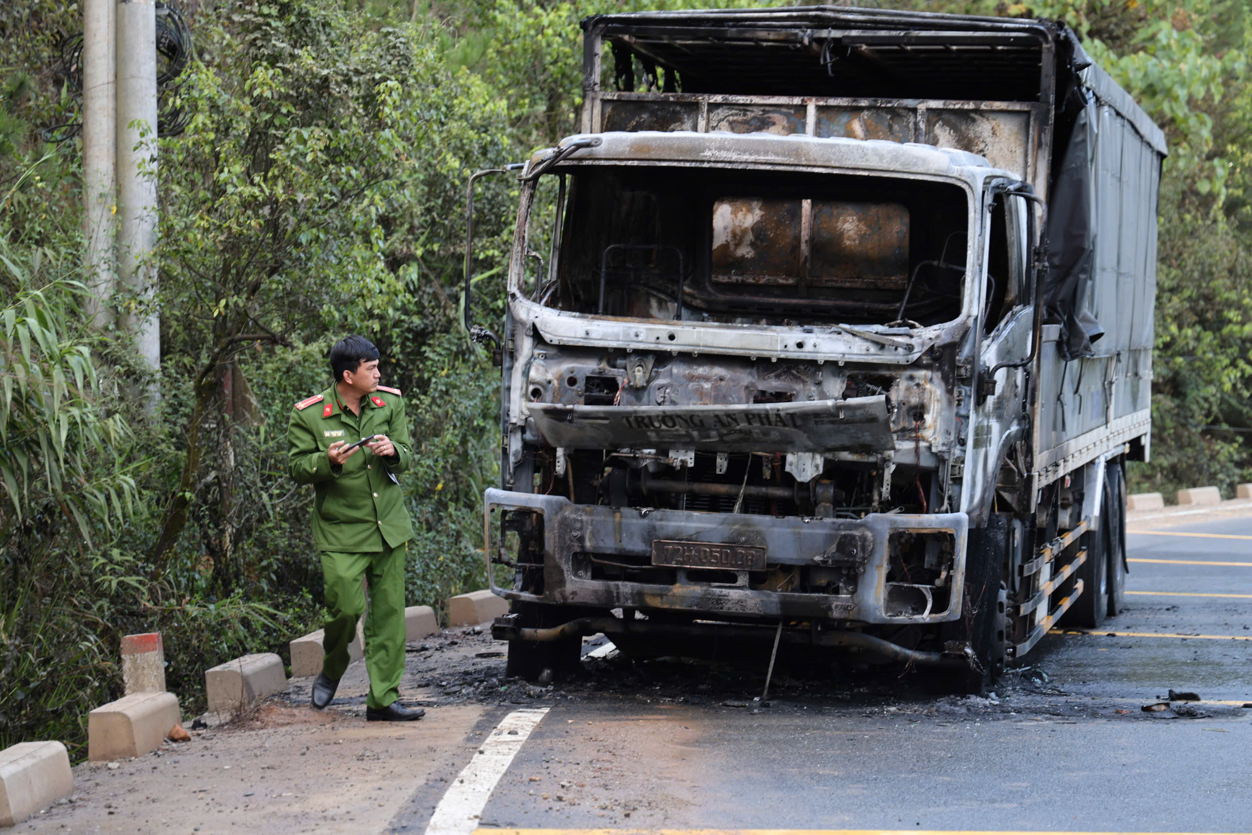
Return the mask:
{"type": "MultiPolygon", "coordinates": [[[[156,5],[118,0],[118,279],[148,302],[156,290],[151,263],[156,243],[156,5]]],[[[160,318],[155,312],[121,317],[139,356],[160,368],[160,318]]]]}

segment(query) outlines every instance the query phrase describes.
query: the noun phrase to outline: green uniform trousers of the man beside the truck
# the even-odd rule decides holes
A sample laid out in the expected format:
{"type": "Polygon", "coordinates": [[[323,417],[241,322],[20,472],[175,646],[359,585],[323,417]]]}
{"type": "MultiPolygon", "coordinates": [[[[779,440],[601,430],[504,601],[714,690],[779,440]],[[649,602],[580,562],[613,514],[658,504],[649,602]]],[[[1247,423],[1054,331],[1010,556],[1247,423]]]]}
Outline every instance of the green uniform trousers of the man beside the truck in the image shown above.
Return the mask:
{"type": "Polygon", "coordinates": [[[326,581],[326,658],[322,672],[341,679],[348,669],[348,645],[357,637],[357,621],[366,611],[361,578],[369,583],[366,617],[366,670],[369,672],[368,707],[386,707],[399,697],[404,675],[404,556],[408,545],[372,553],[322,552],[326,581]]]}

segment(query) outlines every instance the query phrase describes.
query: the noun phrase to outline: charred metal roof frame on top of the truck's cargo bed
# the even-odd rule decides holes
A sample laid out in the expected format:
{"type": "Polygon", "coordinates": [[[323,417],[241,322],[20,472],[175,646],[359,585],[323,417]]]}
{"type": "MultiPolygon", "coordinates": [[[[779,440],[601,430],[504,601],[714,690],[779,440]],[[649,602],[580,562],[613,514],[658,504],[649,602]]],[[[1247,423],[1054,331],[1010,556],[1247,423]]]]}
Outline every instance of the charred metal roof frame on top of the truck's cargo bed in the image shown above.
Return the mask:
{"type": "MultiPolygon", "coordinates": [[[[617,55],[634,53],[657,93],[1028,101],[1050,111],[1077,83],[1166,153],[1161,129],[1059,23],[805,6],[596,15],[582,29],[588,109],[605,95],[608,41],[617,55]]],[[[623,78],[634,86],[634,61],[618,68],[623,78]]]]}

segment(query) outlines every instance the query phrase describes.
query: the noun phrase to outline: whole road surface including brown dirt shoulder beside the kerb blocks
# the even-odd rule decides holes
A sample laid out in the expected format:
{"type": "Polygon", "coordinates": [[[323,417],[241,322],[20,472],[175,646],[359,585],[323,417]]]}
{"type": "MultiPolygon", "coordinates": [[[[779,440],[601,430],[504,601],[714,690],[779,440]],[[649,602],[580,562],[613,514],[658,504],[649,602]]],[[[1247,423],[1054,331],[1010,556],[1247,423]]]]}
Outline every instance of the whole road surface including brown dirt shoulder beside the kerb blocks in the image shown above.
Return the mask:
{"type": "Polygon", "coordinates": [[[596,642],[540,687],[505,676],[490,630],[444,630],[407,647],[418,724],[364,721],[363,663],[326,711],[294,679],[189,742],[75,766],[74,795],[13,831],[1252,832],[1252,512],[1131,528],[1127,611],[1045,636],[984,697],[780,663],[761,702],[767,655],[596,642]]]}

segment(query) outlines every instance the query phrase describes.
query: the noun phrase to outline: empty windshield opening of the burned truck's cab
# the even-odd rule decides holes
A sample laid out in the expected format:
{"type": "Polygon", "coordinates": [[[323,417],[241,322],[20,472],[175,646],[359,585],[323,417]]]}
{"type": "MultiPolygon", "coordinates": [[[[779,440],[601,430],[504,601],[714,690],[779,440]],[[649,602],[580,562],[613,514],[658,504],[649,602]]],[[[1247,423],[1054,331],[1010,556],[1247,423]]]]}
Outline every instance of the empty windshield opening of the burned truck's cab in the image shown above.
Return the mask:
{"type": "Polygon", "coordinates": [[[568,166],[540,178],[527,248],[555,263],[523,292],[642,319],[938,324],[960,313],[967,222],[965,192],[929,180],[568,166]]]}

